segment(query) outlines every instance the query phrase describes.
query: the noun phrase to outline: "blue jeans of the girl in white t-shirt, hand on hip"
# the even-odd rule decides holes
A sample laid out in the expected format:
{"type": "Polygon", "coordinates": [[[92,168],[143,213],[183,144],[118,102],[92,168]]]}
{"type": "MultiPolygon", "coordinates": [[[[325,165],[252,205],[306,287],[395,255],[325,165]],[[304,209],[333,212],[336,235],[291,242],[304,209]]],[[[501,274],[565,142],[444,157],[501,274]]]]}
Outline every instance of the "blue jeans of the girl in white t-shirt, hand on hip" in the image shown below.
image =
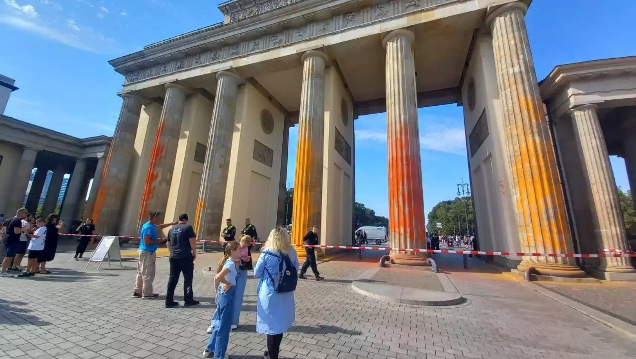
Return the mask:
{"type": "Polygon", "coordinates": [[[212,334],[207,342],[207,350],[214,353],[214,359],[225,358],[225,351],[230,341],[230,325],[234,309],[236,286],[223,293],[221,286],[216,290],[216,311],[212,316],[212,334]]]}

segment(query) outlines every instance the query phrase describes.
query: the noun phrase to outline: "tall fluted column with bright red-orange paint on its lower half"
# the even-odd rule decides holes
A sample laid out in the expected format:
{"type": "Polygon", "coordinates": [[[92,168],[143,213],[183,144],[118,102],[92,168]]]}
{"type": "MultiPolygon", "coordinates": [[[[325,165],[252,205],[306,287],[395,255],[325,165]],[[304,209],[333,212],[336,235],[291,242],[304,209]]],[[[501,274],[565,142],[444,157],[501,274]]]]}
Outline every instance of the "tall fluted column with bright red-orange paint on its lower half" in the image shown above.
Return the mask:
{"type": "MultiPolygon", "coordinates": [[[[390,32],[386,49],[389,238],[394,248],[426,249],[413,32],[390,32]]],[[[422,253],[392,252],[398,264],[424,266],[422,253]]]]}

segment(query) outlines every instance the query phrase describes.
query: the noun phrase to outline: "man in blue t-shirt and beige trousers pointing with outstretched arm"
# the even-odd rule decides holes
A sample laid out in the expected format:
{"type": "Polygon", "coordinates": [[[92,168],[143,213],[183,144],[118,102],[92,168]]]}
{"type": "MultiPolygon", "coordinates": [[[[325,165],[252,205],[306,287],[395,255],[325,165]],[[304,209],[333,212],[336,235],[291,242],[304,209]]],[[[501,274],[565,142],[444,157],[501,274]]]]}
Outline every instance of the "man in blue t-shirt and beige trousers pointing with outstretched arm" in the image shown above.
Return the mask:
{"type": "Polygon", "coordinates": [[[156,250],[159,247],[158,229],[177,224],[178,222],[158,224],[162,221],[160,212],[152,212],[148,222],[141,227],[141,239],[139,240],[139,259],[137,260],[137,278],[135,278],[135,291],[133,298],[155,299],[159,296],[153,293],[153,281],[155,280],[156,250]]]}

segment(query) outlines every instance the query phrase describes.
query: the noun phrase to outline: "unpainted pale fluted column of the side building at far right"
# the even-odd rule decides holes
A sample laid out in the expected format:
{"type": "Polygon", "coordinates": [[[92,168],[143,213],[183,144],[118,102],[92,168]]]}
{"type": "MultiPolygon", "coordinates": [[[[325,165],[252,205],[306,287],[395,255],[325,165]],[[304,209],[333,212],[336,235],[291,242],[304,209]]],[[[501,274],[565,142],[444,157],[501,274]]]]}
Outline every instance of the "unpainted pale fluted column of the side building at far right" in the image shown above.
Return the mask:
{"type": "MultiPolygon", "coordinates": [[[[597,105],[577,106],[570,110],[576,147],[583,163],[598,250],[624,250],[628,248],[625,220],[596,110],[597,105]]],[[[601,258],[598,269],[621,273],[636,271],[630,259],[624,257],[601,258]]]]}

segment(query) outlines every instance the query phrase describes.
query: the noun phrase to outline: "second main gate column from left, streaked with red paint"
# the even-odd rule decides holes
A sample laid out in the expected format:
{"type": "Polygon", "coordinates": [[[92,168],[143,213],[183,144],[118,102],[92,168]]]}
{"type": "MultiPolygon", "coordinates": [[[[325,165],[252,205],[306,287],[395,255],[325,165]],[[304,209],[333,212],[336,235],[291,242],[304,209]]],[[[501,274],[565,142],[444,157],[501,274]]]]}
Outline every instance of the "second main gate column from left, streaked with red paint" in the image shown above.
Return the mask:
{"type": "Polygon", "coordinates": [[[186,95],[186,88],[181,85],[165,85],[165,99],[141,196],[137,227],[141,227],[141,224],[148,220],[149,212],[165,213],[165,207],[168,205],[186,95]]]}

